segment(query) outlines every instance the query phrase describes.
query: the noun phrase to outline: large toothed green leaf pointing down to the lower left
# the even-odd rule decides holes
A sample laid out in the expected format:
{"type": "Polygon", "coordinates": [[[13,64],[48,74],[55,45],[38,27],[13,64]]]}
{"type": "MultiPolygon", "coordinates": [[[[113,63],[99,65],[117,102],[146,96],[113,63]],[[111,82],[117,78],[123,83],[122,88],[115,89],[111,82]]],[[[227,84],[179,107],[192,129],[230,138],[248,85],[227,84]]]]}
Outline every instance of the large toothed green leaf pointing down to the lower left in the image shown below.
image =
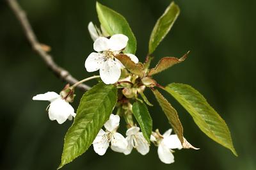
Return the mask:
{"type": "Polygon", "coordinates": [[[99,82],[84,93],[74,123],[65,135],[61,164],[58,169],[89,148],[115,107],[116,93],[116,86],[106,85],[103,82],[99,82]]]}

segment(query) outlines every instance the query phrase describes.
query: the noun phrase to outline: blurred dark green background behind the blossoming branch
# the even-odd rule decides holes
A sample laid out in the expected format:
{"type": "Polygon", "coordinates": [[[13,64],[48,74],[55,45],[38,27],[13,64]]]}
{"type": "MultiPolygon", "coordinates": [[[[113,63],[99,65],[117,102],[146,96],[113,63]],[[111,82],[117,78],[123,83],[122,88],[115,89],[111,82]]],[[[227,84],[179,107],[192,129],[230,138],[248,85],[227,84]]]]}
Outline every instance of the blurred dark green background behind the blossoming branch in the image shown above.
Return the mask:
{"type": "MultiPolygon", "coordinates": [[[[87,24],[91,20],[99,24],[95,1],[19,2],[40,42],[52,47],[56,63],[77,79],[92,75],[86,72],[84,61],[93,51],[87,24]]],[[[151,30],[170,1],[100,2],[128,20],[138,41],[136,55],[143,61],[151,30]]],[[[188,50],[191,53],[184,63],[160,73],[156,79],[163,85],[183,82],[198,89],[227,122],[239,157],[206,137],[188,112],[164,93],[179,112],[184,135],[200,150],[176,151],[175,163],[166,165],[159,160],[154,146],[145,156],[135,150],[128,156],[108,150],[103,157],[90,147],[63,169],[256,169],[256,1],[177,0],[175,3],[180,6],[180,16],[154,52],[153,65],[163,56],[180,57],[188,50]]],[[[0,169],[56,169],[63,137],[72,122],[58,125],[50,121],[45,112],[48,103],[33,102],[31,98],[46,91],[60,91],[65,82],[49,72],[31,50],[5,1],[0,2],[0,20],[0,169]]],[[[81,95],[77,90],[74,107],[81,95]]],[[[146,95],[155,104],[149,109],[154,129],[164,132],[170,125],[150,91],[146,95]]]]}

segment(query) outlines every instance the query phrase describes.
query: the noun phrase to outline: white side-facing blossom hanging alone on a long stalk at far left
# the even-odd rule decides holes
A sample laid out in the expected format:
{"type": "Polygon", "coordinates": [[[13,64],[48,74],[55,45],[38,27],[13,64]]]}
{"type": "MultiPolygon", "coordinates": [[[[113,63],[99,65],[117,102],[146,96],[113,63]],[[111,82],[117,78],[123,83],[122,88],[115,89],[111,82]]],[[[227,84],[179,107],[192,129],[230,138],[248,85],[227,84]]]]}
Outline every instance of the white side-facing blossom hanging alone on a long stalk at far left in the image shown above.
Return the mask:
{"type": "Polygon", "coordinates": [[[51,102],[47,111],[50,120],[56,120],[58,123],[64,123],[67,119],[72,120],[76,116],[74,108],[66,102],[60,95],[55,92],[47,92],[44,94],[36,95],[33,100],[48,100],[51,102]]]}

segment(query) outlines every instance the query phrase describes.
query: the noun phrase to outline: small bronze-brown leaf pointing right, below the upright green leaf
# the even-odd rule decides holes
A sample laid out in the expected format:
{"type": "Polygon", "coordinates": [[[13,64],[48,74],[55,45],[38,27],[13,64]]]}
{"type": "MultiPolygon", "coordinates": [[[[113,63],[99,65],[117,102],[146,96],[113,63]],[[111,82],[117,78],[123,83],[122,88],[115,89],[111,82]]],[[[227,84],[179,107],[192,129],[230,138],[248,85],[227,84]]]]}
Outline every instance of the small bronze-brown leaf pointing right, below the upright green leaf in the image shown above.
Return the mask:
{"type": "Polygon", "coordinates": [[[189,52],[184,54],[182,58],[172,58],[172,57],[161,58],[160,61],[157,63],[156,67],[148,71],[148,76],[154,75],[159,72],[163,72],[163,70],[166,70],[173,65],[181,63],[187,58],[188,54],[189,52]]]}

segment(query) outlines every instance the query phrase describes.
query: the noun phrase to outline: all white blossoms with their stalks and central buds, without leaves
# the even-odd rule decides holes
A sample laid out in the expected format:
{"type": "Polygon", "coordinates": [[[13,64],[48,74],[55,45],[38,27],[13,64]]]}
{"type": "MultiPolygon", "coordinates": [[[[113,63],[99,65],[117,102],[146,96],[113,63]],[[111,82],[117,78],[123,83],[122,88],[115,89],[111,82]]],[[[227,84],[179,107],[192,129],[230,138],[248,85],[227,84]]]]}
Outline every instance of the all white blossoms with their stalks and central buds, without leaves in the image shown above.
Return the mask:
{"type": "MultiPolygon", "coordinates": [[[[121,87],[120,93],[122,98],[118,107],[122,112],[119,114],[111,114],[109,120],[104,124],[105,130],[102,128],[93,141],[93,149],[99,155],[104,155],[110,146],[111,150],[129,155],[132,148],[135,148],[141,155],[146,155],[150,150],[149,139],[145,139],[140,127],[137,127],[132,120],[132,105],[129,102],[130,98],[139,100],[137,98],[138,93],[143,93],[145,86],[144,82],[151,83],[150,77],[144,77],[143,79],[138,75],[127,73],[125,66],[116,58],[116,55],[122,54],[123,50],[127,46],[129,38],[122,34],[116,34],[109,37],[104,29],[95,27],[92,22],[88,25],[90,35],[94,41],[93,49],[96,52],[92,52],[84,63],[84,66],[88,72],[95,72],[99,70],[99,76],[95,75],[77,82],[73,86],[67,85],[58,95],[55,92],[47,92],[44,94],[36,95],[33,100],[48,100],[51,104],[47,107],[50,120],[56,120],[58,123],[63,123],[67,119],[72,120],[76,116],[74,108],[69,104],[74,100],[74,88],[77,84],[90,79],[100,77],[105,84],[115,84],[119,86],[120,82],[127,83],[121,87]],[[125,72],[125,76],[121,77],[121,73],[125,72]],[[120,78],[121,77],[121,78],[120,78]],[[147,79],[148,78],[148,79],[147,79]],[[147,79],[147,80],[146,80],[147,79]],[[143,81],[144,80],[144,81],[143,81]],[[118,83],[116,83],[118,82],[118,83]],[[132,85],[131,85],[132,84],[132,85]],[[124,100],[124,104],[122,104],[124,100]],[[127,102],[128,101],[128,102],[127,102]],[[118,133],[118,127],[120,122],[120,116],[124,116],[127,123],[126,137],[118,133]]],[[[139,60],[134,54],[124,54],[131,59],[134,64],[139,60]]],[[[119,110],[120,111],[120,110],[119,110]]],[[[162,162],[165,164],[171,164],[174,162],[173,149],[181,149],[182,144],[179,141],[177,135],[171,135],[172,129],[167,130],[163,135],[156,132],[152,132],[150,141],[158,147],[157,153],[162,162]]]]}

